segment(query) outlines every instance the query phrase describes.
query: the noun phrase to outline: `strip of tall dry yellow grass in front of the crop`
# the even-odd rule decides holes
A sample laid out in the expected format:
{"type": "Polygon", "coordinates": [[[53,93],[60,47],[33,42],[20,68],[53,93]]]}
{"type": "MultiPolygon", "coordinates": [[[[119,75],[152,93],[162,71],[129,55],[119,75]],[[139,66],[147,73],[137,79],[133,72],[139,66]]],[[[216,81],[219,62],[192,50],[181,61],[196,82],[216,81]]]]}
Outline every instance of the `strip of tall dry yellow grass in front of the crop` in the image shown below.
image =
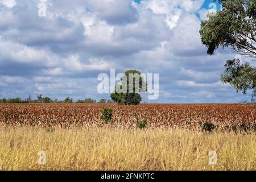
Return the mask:
{"type": "Polygon", "coordinates": [[[255,170],[255,144],[255,133],[0,126],[0,169],[255,170]],[[46,165],[38,164],[39,151],[46,165]]]}

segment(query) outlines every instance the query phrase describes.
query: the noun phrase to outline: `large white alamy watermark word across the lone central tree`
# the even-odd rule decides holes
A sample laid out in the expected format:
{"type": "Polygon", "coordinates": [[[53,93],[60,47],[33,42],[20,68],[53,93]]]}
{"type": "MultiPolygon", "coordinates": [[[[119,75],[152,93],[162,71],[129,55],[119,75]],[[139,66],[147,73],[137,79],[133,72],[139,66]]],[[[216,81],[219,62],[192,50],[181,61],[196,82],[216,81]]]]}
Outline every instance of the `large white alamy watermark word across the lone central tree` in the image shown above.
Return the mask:
{"type": "Polygon", "coordinates": [[[115,69],[110,69],[110,77],[106,73],[100,73],[97,80],[101,81],[97,86],[100,94],[141,92],[148,94],[148,100],[157,100],[159,97],[159,73],[129,73],[127,77],[123,73],[115,75],[115,69]]]}

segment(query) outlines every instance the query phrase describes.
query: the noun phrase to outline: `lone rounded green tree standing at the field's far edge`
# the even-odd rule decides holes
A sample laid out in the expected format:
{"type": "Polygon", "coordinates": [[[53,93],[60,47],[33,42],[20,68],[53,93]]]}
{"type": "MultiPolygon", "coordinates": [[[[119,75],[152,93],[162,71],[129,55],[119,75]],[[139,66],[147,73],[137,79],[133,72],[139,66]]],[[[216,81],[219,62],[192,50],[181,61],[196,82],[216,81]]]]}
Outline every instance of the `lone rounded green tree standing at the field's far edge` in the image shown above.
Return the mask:
{"type": "Polygon", "coordinates": [[[142,73],[137,70],[126,71],[121,81],[115,85],[110,97],[114,102],[125,105],[138,105],[142,97],[139,93],[147,91],[147,82],[142,73]]]}

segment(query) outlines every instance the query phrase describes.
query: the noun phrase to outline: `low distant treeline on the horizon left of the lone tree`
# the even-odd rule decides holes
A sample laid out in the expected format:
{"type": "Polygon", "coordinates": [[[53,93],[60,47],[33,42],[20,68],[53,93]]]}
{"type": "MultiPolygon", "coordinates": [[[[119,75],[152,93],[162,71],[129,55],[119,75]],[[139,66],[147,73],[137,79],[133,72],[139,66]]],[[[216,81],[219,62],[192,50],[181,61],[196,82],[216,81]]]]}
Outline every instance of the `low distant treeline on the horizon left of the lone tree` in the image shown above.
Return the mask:
{"type": "MultiPolygon", "coordinates": [[[[61,100],[52,100],[49,97],[43,97],[42,94],[38,95],[38,99],[32,100],[31,96],[28,96],[26,99],[21,99],[19,97],[15,98],[0,98],[0,103],[96,103],[96,100],[92,100],[91,98],[85,98],[84,100],[73,101],[72,98],[65,98],[63,101],[61,100]]],[[[98,103],[113,103],[112,100],[106,100],[102,98],[98,103]]]]}

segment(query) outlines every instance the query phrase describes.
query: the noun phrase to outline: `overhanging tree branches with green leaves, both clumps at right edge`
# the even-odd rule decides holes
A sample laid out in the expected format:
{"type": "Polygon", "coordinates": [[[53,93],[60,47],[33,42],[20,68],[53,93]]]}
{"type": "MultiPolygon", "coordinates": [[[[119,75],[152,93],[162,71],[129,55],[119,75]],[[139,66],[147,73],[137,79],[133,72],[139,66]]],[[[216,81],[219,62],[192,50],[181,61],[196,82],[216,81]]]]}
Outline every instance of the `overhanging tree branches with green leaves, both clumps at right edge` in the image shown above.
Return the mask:
{"type": "MultiPolygon", "coordinates": [[[[208,48],[207,53],[213,55],[218,47],[229,47],[240,55],[256,58],[256,1],[218,2],[222,3],[222,10],[201,22],[201,42],[208,48]]],[[[225,73],[221,75],[223,83],[231,84],[243,94],[252,89],[252,97],[256,96],[255,67],[233,59],[226,61],[225,68],[225,73]]]]}

